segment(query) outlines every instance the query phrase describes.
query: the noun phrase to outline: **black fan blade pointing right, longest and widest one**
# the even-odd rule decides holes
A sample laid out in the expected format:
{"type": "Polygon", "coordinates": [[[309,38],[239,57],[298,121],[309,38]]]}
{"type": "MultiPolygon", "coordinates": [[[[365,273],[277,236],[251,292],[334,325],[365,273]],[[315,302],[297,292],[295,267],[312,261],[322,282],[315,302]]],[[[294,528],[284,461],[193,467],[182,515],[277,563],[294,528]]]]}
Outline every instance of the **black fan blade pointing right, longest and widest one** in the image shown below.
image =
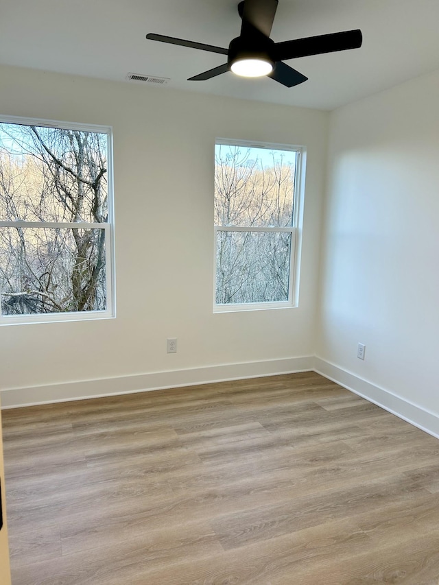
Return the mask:
{"type": "Polygon", "coordinates": [[[320,55],[321,53],[332,53],[333,51],[358,49],[362,42],[363,36],[359,29],[285,40],[283,43],[274,44],[274,59],[283,61],[309,55],[320,55]]]}

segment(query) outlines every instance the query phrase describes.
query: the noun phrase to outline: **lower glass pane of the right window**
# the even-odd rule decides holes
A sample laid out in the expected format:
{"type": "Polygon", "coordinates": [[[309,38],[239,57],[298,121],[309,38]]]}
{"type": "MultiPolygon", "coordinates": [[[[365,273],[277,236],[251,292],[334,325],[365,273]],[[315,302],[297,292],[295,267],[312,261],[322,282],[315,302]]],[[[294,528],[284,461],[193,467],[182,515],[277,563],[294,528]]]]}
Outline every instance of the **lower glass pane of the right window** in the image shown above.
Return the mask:
{"type": "Polygon", "coordinates": [[[216,302],[288,300],[291,236],[218,230],[216,302]]]}

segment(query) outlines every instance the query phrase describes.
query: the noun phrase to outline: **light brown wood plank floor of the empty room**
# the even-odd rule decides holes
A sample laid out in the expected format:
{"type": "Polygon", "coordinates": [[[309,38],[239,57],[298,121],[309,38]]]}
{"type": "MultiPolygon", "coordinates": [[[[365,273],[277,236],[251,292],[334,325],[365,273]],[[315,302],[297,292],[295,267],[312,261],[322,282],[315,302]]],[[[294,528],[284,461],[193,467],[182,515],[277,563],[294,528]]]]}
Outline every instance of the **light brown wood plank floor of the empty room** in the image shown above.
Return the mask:
{"type": "Polygon", "coordinates": [[[3,411],[13,585],[439,584],[439,441],[313,372],[3,411]]]}

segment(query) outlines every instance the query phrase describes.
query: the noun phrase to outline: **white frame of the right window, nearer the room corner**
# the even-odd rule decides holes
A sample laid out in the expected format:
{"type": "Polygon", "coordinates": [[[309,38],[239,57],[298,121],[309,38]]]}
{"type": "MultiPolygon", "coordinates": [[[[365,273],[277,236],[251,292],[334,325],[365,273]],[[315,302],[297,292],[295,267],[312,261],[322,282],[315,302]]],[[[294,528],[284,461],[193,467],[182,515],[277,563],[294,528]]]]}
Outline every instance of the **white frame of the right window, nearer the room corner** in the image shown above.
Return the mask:
{"type": "MultiPolygon", "coordinates": [[[[298,307],[298,284],[300,272],[300,251],[302,248],[303,199],[305,196],[305,164],[306,150],[299,145],[255,142],[235,139],[215,139],[217,145],[238,146],[243,148],[263,148],[265,150],[285,150],[296,153],[294,169],[293,214],[291,226],[217,226],[213,225],[213,313],[234,313],[241,311],[260,311],[271,309],[293,309],[298,307]],[[217,303],[217,233],[227,232],[290,232],[291,246],[289,254],[288,299],[281,301],[217,303]]],[[[215,196],[215,195],[214,195],[215,196]]]]}

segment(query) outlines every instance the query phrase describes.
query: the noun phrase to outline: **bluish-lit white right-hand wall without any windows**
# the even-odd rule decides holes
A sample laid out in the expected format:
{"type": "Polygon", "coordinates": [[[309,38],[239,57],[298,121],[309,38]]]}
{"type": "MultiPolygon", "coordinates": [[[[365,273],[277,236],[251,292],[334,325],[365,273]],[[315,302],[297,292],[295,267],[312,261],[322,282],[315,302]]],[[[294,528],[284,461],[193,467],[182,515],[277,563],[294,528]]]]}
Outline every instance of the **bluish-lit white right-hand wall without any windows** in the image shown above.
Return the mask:
{"type": "Polygon", "coordinates": [[[438,104],[436,71],[331,113],[320,370],[407,418],[439,415],[438,104]]]}

